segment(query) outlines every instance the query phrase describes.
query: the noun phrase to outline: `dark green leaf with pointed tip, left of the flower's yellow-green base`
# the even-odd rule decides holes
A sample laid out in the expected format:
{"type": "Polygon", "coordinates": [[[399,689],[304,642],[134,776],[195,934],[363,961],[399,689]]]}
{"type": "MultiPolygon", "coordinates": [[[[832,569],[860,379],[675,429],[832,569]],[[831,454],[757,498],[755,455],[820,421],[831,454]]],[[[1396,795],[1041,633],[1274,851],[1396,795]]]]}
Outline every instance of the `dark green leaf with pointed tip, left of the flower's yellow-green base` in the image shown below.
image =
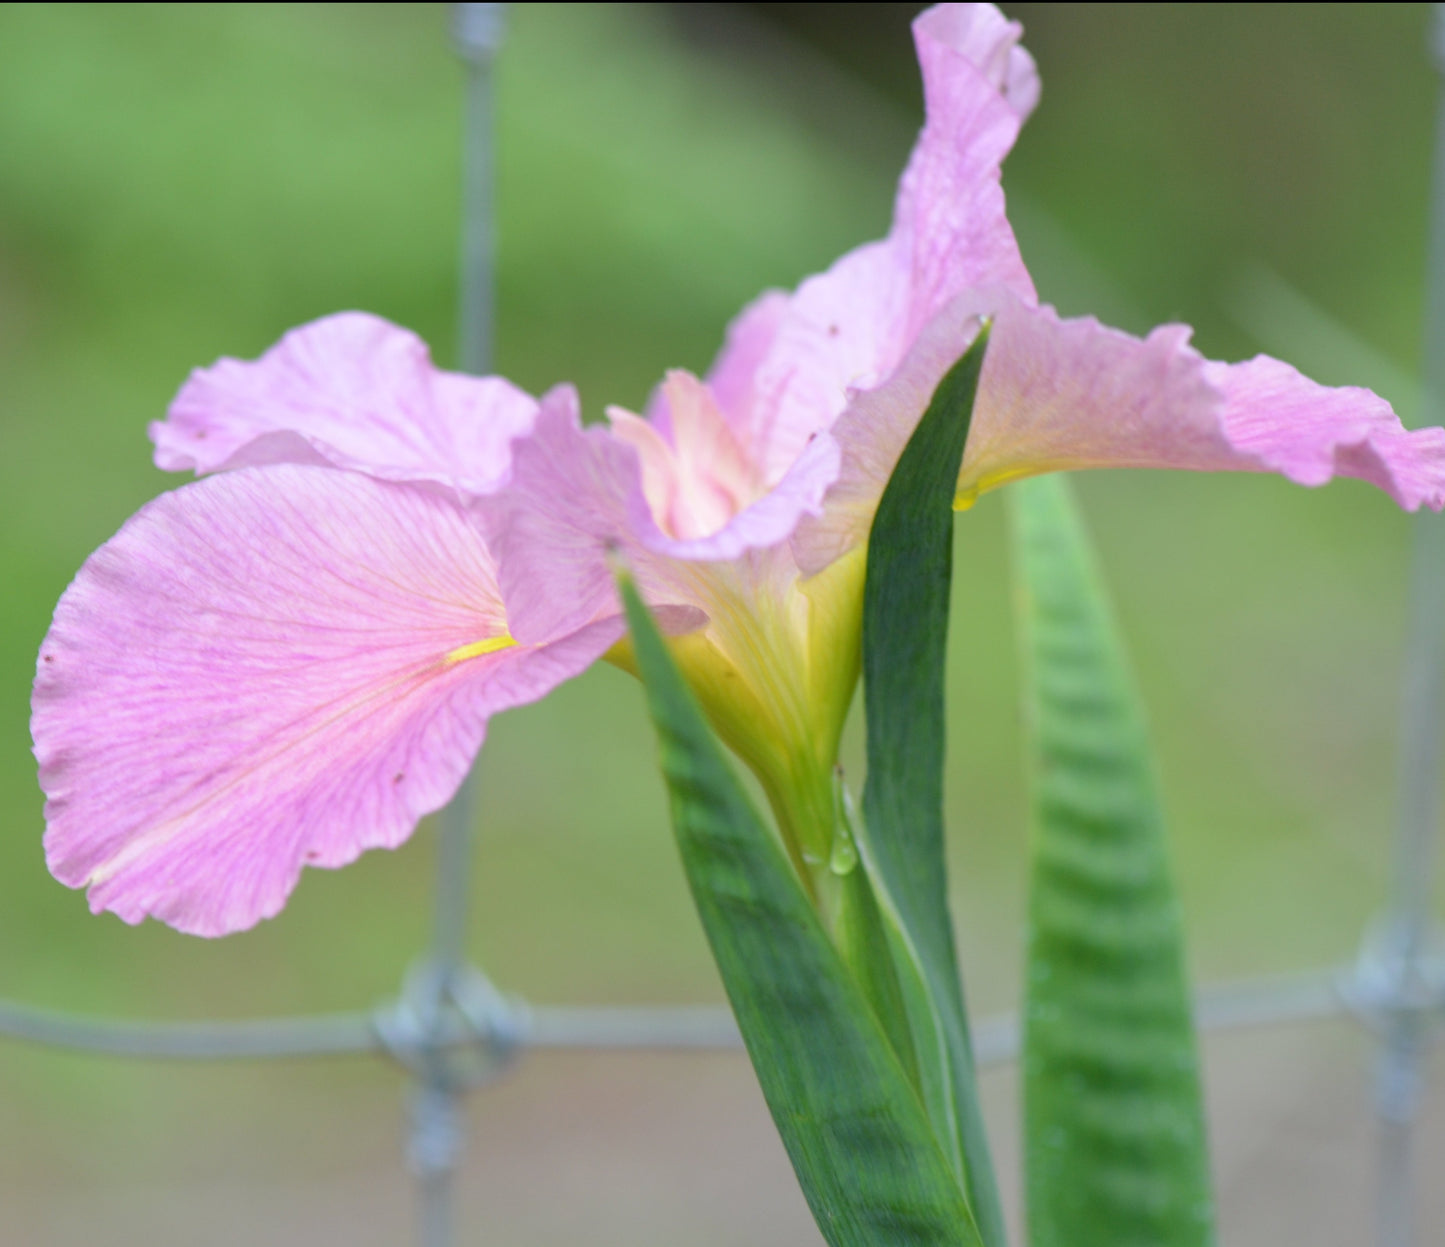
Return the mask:
{"type": "Polygon", "coordinates": [[[980,1247],[877,1017],[627,578],[621,594],[688,883],[819,1230],[832,1247],[980,1247]]]}

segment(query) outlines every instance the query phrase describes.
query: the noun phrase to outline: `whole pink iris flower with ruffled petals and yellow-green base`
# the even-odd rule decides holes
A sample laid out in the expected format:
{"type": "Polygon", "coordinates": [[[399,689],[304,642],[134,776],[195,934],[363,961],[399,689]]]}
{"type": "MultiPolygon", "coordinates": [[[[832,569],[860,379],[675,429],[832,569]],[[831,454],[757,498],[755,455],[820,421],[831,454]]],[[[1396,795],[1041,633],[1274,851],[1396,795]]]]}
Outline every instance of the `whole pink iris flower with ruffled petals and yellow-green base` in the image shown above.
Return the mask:
{"type": "Polygon", "coordinates": [[[396,845],[448,801],[487,718],[604,652],[627,665],[620,552],[805,881],[827,861],[858,675],[868,527],[944,373],[991,321],[958,506],[1087,467],[1353,475],[1445,503],[1445,431],[1287,364],[1204,360],[1042,306],[1000,166],[1038,103],[988,4],[915,23],[926,124],[889,236],[733,324],[644,418],[581,426],[431,367],[344,315],[197,373],[152,428],[221,475],[136,514],[81,569],[38,665],[46,854],[95,910],[217,935],[303,866],[396,845]]]}

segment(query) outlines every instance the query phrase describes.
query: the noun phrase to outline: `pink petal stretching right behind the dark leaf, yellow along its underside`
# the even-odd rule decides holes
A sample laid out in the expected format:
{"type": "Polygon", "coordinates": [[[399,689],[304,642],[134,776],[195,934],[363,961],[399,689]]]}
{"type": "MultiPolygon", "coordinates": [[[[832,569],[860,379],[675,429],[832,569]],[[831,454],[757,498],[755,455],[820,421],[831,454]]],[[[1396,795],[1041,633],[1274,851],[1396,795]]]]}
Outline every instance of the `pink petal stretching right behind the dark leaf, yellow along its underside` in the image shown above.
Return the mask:
{"type": "Polygon", "coordinates": [[[974,292],[935,316],[897,371],[854,394],[834,425],[837,483],[792,542],[805,575],[867,540],[903,446],[985,315],[993,328],[959,506],[1012,480],[1081,468],[1276,471],[1305,486],[1345,475],[1407,510],[1445,506],[1445,429],[1407,432],[1370,390],[1319,386],[1266,355],[1208,361],[1183,325],[1134,338],[1006,290],[974,292]]]}

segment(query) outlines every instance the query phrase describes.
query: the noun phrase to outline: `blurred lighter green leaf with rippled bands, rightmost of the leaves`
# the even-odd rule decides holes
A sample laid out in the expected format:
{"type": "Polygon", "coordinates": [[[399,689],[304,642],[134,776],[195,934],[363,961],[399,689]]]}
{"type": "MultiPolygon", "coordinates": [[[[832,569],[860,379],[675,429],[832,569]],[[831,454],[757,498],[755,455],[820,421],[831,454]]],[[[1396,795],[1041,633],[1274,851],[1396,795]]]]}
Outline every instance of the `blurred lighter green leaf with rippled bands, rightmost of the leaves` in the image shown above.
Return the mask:
{"type": "Polygon", "coordinates": [[[1198,1059],[1143,715],[1068,483],[1012,493],[1035,808],[1030,1243],[1201,1247],[1198,1059]]]}

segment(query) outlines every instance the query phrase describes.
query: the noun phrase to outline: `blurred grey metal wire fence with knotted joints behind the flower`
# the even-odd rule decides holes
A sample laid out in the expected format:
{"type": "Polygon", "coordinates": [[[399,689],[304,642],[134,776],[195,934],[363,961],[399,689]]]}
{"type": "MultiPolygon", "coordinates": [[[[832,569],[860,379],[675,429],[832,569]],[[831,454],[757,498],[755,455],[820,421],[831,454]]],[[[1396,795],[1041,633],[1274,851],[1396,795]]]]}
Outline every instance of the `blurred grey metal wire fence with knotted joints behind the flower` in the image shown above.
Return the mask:
{"type": "MultiPolygon", "coordinates": [[[[465,87],[460,355],[467,371],[490,366],[493,324],[493,61],[503,4],[454,10],[465,87]]],[[[1436,6],[1433,52],[1445,71],[1445,6],[1436,6]]],[[[1425,316],[1425,406],[1445,405],[1445,95],[1436,131],[1425,316]]],[[[1201,1030],[1360,1019],[1376,1036],[1379,1118],[1377,1244],[1412,1247],[1413,1126],[1425,1055],[1445,1024],[1445,949],[1432,925],[1439,838],[1439,754],[1445,705],[1445,517],[1413,522],[1406,640],[1399,822],[1390,897],[1354,964],[1306,974],[1205,987],[1201,1030]]],[[[725,1009],[532,1006],[500,993],[465,955],[473,860],[470,783],[439,816],[431,944],[394,1000],[355,1013],[251,1022],[155,1023],[77,1017],[0,1000],[0,1035],[103,1056],[155,1061],[267,1061],[370,1056],[410,1081],[407,1163],[416,1183],[420,1247],[448,1247],[452,1179],[462,1155],[462,1101],[535,1049],[740,1049],[725,1009]]],[[[1014,1016],[975,1023],[984,1068],[1019,1052],[1014,1016]]]]}

